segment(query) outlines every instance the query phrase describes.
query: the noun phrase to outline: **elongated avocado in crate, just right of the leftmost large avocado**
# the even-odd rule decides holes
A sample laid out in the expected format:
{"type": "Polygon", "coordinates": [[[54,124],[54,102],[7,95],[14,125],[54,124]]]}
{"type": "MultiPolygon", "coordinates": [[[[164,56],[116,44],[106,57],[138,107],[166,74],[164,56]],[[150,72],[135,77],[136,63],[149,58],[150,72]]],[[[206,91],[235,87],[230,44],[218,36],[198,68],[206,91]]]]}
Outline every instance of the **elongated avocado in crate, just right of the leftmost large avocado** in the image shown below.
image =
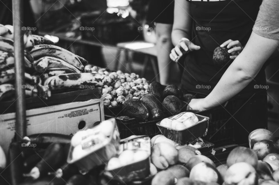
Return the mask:
{"type": "Polygon", "coordinates": [[[162,111],[162,103],[155,94],[144,95],[141,99],[149,110],[149,119],[159,119],[164,117],[164,112],[162,111]]]}

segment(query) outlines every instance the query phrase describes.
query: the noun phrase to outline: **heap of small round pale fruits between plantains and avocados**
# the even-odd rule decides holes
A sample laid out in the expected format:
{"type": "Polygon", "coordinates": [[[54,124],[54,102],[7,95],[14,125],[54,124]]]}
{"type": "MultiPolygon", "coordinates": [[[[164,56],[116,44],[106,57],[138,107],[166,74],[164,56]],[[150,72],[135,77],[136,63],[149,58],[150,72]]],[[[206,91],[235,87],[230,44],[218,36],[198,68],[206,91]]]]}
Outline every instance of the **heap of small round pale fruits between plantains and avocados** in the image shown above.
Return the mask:
{"type": "Polygon", "coordinates": [[[111,72],[105,68],[86,65],[85,72],[107,75],[115,81],[115,84],[103,86],[104,105],[107,107],[120,106],[128,99],[140,99],[148,94],[149,82],[140,78],[135,73],[123,73],[118,70],[111,72]]]}

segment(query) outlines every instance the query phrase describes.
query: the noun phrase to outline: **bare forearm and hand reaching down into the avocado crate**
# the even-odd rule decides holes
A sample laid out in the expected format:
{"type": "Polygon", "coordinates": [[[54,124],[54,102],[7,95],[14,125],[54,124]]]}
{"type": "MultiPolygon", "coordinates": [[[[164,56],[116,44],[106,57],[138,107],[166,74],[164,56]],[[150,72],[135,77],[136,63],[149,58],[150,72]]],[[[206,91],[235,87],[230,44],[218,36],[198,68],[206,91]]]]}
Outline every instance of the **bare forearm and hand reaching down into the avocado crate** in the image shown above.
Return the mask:
{"type": "Polygon", "coordinates": [[[203,111],[237,95],[256,77],[278,45],[279,40],[264,38],[252,32],[243,51],[228,67],[212,92],[203,99],[192,99],[189,107],[203,111]]]}

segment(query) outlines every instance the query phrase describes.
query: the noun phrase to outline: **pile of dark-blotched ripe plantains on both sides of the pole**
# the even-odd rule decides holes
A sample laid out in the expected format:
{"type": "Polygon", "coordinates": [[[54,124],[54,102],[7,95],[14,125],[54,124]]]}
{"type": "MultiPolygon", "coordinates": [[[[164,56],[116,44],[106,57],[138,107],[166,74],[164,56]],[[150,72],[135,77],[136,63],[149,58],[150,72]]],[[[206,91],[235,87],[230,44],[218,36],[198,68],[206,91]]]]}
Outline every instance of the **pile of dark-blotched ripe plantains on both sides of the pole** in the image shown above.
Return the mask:
{"type": "MultiPolygon", "coordinates": [[[[0,25],[0,101],[14,98],[14,47],[13,27],[0,25]]],[[[84,73],[87,61],[70,51],[55,46],[47,38],[24,34],[24,65],[27,97],[47,99],[51,92],[84,88],[102,87],[113,80],[105,74],[84,73]]]]}

